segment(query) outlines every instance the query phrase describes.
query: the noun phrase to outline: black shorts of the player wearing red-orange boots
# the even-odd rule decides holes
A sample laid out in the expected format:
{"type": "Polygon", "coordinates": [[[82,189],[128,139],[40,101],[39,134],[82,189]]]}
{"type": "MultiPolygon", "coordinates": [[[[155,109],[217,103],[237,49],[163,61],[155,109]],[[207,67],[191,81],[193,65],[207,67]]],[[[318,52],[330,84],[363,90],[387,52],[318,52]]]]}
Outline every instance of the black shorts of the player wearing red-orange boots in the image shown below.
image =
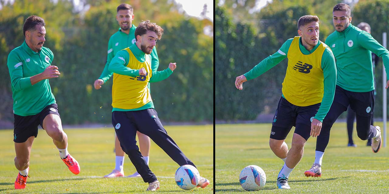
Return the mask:
{"type": "Polygon", "coordinates": [[[44,107],[40,113],[30,116],[14,114],[14,142],[23,143],[31,136],[37,137],[38,125],[43,128],[43,120],[48,114],[57,114],[60,116],[57,104],[50,104],[44,107]]]}

